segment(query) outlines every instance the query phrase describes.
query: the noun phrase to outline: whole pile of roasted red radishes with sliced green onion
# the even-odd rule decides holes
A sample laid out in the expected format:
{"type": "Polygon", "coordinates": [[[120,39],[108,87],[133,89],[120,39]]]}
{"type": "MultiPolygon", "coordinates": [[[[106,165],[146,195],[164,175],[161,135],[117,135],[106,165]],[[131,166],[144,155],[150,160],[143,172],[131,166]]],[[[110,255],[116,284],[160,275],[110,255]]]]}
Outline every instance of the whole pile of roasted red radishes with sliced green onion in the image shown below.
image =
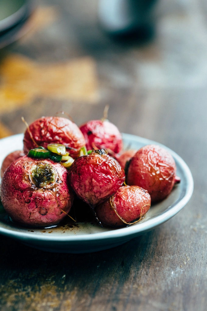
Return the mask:
{"type": "Polygon", "coordinates": [[[58,224],[75,197],[101,225],[131,225],[179,182],[168,151],[158,145],[123,151],[107,119],[79,128],[67,118],[42,117],[27,127],[23,143],[24,151],[2,163],[0,194],[8,215],[25,226],[58,224]]]}

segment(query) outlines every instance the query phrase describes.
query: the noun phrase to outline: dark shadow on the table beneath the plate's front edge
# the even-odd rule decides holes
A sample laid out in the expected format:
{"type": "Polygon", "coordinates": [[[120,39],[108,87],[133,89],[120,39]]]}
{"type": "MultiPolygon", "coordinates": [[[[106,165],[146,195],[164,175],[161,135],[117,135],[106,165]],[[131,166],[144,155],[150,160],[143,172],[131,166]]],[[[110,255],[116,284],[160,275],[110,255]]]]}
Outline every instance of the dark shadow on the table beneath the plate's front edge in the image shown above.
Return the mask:
{"type": "MultiPolygon", "coordinates": [[[[150,231],[118,247],[85,254],[43,252],[3,237],[0,257],[3,271],[0,275],[2,277],[5,270],[10,271],[12,277],[18,277],[20,272],[23,278],[29,278],[31,274],[33,282],[37,282],[43,275],[44,278],[66,275],[70,281],[74,277],[78,279],[84,276],[87,282],[93,281],[97,274],[102,277],[105,275],[105,279],[111,277],[110,273],[127,278],[132,265],[139,269],[142,261],[151,256],[151,248],[156,246],[154,236],[154,231],[150,231]]],[[[8,275],[4,276],[7,277],[8,275]]]]}

